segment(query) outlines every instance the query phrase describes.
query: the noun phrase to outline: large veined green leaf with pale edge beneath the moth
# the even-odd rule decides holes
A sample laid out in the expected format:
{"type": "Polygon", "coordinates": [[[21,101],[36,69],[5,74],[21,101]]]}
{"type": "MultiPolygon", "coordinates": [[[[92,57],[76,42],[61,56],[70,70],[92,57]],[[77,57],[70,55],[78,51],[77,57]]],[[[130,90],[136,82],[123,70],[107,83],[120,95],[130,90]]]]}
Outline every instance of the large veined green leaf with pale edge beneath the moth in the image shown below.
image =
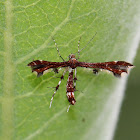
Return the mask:
{"type": "Polygon", "coordinates": [[[33,59],[61,61],[51,37],[65,60],[97,32],[80,53],[79,61],[132,62],[139,40],[139,0],[0,2],[0,139],[95,139],[113,137],[127,76],[77,69],[75,106],[66,98],[68,73],[50,99],[63,73],[37,78],[27,64],[33,59]]]}

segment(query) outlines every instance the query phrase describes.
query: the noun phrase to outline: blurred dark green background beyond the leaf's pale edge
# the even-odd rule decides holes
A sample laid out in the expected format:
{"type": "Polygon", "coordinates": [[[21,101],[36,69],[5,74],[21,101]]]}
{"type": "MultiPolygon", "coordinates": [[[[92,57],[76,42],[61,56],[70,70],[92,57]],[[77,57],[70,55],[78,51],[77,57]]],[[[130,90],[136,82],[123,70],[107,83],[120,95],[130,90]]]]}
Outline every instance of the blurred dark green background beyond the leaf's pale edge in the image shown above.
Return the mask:
{"type": "Polygon", "coordinates": [[[128,79],[114,140],[140,140],[140,46],[128,79]]]}

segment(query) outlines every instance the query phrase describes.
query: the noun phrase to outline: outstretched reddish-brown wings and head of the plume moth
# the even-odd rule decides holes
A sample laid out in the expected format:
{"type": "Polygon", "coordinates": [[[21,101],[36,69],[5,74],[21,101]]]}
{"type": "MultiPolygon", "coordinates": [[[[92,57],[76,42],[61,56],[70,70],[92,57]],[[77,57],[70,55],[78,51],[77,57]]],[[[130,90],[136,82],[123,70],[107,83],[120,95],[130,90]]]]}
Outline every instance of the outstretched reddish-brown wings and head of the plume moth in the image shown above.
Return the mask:
{"type": "Polygon", "coordinates": [[[74,54],[71,54],[69,57],[69,61],[64,62],[50,62],[44,60],[35,60],[28,64],[31,66],[32,72],[36,71],[38,76],[43,75],[43,72],[54,68],[57,69],[59,67],[70,67],[75,69],[76,67],[86,67],[86,68],[94,68],[96,72],[97,69],[105,69],[113,72],[115,76],[121,77],[122,72],[127,73],[127,69],[129,67],[133,67],[132,64],[125,61],[111,61],[111,62],[102,62],[102,63],[87,63],[87,62],[79,62],[74,54]]]}

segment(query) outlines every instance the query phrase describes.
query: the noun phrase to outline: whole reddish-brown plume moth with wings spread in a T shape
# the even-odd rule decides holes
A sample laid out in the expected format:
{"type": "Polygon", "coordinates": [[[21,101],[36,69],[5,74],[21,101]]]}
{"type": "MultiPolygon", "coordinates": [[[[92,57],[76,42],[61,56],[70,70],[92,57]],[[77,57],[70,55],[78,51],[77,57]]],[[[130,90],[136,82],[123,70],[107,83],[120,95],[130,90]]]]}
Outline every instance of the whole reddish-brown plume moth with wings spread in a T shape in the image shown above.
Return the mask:
{"type": "MultiPolygon", "coordinates": [[[[76,100],[74,98],[74,91],[76,85],[76,73],[75,77],[73,77],[73,72],[76,71],[77,67],[86,67],[86,68],[93,68],[93,72],[95,74],[98,73],[99,70],[104,69],[112,72],[114,76],[121,77],[121,74],[123,72],[127,73],[127,69],[129,67],[132,67],[133,65],[125,62],[125,61],[112,61],[112,62],[103,62],[103,63],[87,63],[87,62],[79,62],[74,54],[69,55],[69,60],[64,62],[50,62],[50,61],[44,61],[44,60],[35,60],[28,64],[28,66],[31,66],[32,72],[36,71],[38,77],[43,75],[44,71],[48,69],[55,69],[55,71],[58,72],[57,68],[59,67],[67,67],[66,71],[69,71],[69,77],[67,81],[66,86],[66,95],[68,98],[68,101],[71,105],[74,105],[76,100]]],[[[65,72],[66,72],[65,71],[65,72]]],[[[65,73],[64,73],[65,74],[65,73]]],[[[64,74],[61,76],[61,80],[64,78],[64,74]]],[[[56,91],[59,88],[59,85],[61,83],[61,80],[59,81],[58,85],[56,86],[56,91]]],[[[56,93],[56,91],[53,94],[53,97],[56,93]]],[[[53,100],[53,97],[51,99],[51,103],[53,100]]],[[[51,104],[50,104],[51,106],[51,104]]]]}

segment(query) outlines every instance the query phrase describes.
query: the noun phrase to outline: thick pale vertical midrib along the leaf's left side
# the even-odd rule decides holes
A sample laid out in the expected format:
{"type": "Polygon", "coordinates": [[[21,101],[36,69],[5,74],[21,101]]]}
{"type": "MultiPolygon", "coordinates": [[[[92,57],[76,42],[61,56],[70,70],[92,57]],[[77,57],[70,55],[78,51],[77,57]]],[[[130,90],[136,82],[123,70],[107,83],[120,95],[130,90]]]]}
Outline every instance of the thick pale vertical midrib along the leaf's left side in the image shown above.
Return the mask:
{"type": "Polygon", "coordinates": [[[13,0],[5,2],[5,31],[4,31],[4,80],[2,96],[2,135],[1,139],[10,140],[13,136],[13,76],[14,65],[12,56],[12,20],[13,20],[13,0]]]}

